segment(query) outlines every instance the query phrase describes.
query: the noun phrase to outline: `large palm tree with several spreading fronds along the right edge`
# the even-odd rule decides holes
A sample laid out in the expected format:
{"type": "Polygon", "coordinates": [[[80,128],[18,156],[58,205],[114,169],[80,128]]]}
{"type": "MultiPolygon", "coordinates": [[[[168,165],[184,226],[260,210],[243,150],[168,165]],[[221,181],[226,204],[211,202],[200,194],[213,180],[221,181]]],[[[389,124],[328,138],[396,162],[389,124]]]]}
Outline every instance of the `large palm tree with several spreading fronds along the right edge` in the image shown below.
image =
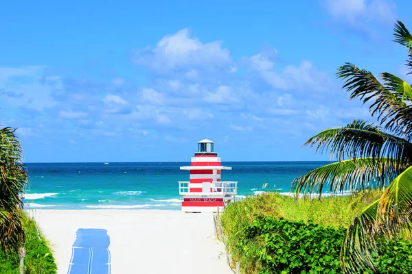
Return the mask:
{"type": "MultiPolygon", "coordinates": [[[[412,36],[400,21],[394,36],[409,52],[406,66],[412,74],[412,36]]],[[[412,88],[390,73],[381,73],[380,82],[350,63],[339,67],[336,75],[344,80],[351,99],[370,104],[369,112],[380,125],[358,120],[310,138],[305,145],[321,152],[328,149],[337,161],[298,177],[293,190],[297,195],[319,192],[320,198],[325,187],[330,192],[383,188],[382,197],[352,221],[341,250],[344,271],[374,271],[376,240],[412,227],[412,88]]]]}

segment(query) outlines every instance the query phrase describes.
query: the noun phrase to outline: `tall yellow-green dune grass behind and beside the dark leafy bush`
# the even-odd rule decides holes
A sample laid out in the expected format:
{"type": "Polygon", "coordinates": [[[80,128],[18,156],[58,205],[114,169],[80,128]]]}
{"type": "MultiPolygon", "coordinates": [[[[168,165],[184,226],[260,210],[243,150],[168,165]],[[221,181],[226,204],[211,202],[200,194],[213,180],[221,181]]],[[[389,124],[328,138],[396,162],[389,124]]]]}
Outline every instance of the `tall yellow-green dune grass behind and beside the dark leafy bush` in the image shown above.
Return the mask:
{"type": "MultiPolygon", "coordinates": [[[[222,228],[228,236],[227,245],[232,261],[240,262],[242,273],[258,273],[260,262],[245,256],[239,243],[244,242],[242,229],[251,225],[258,216],[271,216],[290,221],[312,221],[314,224],[332,227],[341,231],[347,228],[354,216],[382,195],[381,190],[366,190],[350,196],[319,199],[294,199],[267,192],[257,197],[247,197],[231,203],[221,214],[222,228]]],[[[260,245],[257,245],[258,247],[260,245]]]]}

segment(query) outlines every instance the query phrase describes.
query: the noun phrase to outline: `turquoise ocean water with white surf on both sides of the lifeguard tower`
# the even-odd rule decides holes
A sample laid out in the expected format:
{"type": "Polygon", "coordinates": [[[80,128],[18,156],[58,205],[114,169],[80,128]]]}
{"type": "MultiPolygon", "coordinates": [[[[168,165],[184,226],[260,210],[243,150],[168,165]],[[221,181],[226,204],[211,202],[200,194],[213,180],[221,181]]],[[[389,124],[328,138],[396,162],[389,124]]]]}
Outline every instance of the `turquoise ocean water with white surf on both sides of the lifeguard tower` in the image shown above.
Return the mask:
{"type": "MultiPolygon", "coordinates": [[[[238,195],[289,192],[296,177],[329,162],[223,162],[222,181],[238,182],[238,195]]],[[[178,181],[189,181],[190,162],[27,164],[26,208],[180,210],[178,181]]]]}

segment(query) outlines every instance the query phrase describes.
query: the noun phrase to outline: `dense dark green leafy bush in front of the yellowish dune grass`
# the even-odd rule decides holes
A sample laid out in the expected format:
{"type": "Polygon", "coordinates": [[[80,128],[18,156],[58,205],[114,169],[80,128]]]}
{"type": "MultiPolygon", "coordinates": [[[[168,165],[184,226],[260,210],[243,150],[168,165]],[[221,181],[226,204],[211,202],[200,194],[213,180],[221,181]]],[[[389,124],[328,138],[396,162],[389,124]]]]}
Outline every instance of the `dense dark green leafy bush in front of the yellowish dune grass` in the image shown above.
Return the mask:
{"type": "Polygon", "coordinates": [[[342,273],[343,227],[257,216],[240,236],[238,248],[260,262],[259,273],[342,273]]]}

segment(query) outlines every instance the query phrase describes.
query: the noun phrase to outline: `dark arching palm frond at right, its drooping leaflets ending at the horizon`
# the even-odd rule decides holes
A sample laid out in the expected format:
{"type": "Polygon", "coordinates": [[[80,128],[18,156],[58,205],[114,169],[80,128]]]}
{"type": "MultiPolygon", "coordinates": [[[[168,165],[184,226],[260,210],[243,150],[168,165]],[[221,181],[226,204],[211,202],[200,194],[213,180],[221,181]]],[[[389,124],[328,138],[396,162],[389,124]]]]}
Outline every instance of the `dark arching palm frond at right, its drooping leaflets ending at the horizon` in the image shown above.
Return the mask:
{"type": "Polygon", "coordinates": [[[389,158],[397,162],[412,162],[412,143],[382,132],[379,127],[355,120],[345,127],[326,129],[304,145],[317,146],[317,151],[330,149],[332,159],[389,158]]]}

